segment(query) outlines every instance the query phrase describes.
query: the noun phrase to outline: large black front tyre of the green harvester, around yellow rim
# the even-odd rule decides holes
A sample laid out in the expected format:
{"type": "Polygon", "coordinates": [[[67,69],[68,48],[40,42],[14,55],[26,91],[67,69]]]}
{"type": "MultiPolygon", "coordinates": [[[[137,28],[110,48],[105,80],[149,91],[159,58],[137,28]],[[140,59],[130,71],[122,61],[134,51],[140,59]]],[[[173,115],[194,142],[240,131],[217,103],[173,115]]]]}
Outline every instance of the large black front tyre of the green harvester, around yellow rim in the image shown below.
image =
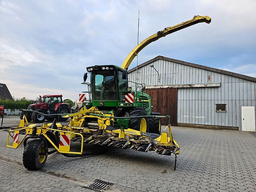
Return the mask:
{"type": "MultiPolygon", "coordinates": [[[[147,116],[147,111],[144,108],[136,107],[132,109],[132,111],[130,112],[130,116],[147,116]]],[[[138,117],[129,119],[129,128],[141,131],[140,124],[142,121],[144,121],[142,119],[146,120],[146,132],[148,132],[148,117],[138,117]]]]}

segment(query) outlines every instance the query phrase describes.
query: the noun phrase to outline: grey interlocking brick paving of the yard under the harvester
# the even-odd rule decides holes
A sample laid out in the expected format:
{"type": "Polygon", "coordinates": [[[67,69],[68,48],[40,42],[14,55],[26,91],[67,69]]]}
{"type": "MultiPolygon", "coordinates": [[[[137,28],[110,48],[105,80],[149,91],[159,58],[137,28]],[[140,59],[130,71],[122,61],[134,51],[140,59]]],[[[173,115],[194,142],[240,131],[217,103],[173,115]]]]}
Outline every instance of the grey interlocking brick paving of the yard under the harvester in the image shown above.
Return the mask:
{"type": "MultiPolygon", "coordinates": [[[[52,181],[53,187],[63,185],[62,191],[84,189],[81,183],[76,186],[73,180],[58,175],[82,180],[82,183],[105,180],[115,184],[113,190],[120,191],[256,191],[256,138],[253,134],[182,127],[173,127],[172,132],[181,147],[176,171],[173,170],[174,156],[108,148],[105,154],[79,158],[55,153],[48,156],[41,171],[31,172],[20,165],[23,146],[4,147],[7,133],[0,131],[0,159],[5,162],[4,167],[0,166],[0,186],[9,186],[4,191],[17,191],[13,190],[13,183],[17,181],[28,185],[29,191],[36,191],[38,187],[33,186],[38,182],[32,178],[38,181],[44,174],[43,179],[52,181]],[[20,173],[18,177],[14,171],[8,173],[13,167],[20,173]],[[2,178],[12,182],[6,183],[2,178]]],[[[58,188],[53,189],[58,191],[58,188]]]]}

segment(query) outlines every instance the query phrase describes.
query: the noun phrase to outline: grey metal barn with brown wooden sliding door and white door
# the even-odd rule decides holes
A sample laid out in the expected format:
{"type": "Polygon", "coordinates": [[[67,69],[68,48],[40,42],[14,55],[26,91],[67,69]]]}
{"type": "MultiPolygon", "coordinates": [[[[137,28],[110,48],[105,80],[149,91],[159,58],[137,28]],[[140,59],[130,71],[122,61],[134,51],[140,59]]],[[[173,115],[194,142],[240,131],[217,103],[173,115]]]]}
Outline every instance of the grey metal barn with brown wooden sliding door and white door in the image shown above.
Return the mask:
{"type": "Polygon", "coordinates": [[[255,131],[254,77],[163,56],[128,72],[172,126],[255,131]]]}

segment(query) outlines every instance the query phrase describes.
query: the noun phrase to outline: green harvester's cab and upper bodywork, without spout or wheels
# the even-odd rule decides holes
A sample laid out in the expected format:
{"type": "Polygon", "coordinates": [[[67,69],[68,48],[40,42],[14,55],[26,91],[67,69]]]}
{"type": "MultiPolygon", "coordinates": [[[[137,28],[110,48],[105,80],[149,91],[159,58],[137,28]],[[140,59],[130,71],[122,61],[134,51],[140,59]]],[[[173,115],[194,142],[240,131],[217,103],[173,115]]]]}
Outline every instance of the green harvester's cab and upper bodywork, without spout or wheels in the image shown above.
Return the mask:
{"type": "Polygon", "coordinates": [[[151,113],[150,96],[144,93],[145,84],[128,81],[126,69],[115,65],[95,65],[86,68],[91,75],[91,83],[85,83],[87,74],[84,74],[84,83],[88,85],[88,100],[83,105],[96,106],[100,110],[111,111],[113,107],[127,108],[130,111],[134,107],[143,107],[147,113],[151,113]],[[132,86],[135,90],[132,90],[132,86]],[[138,91],[137,91],[138,90],[138,91]],[[129,109],[130,108],[130,109],[129,109]]]}

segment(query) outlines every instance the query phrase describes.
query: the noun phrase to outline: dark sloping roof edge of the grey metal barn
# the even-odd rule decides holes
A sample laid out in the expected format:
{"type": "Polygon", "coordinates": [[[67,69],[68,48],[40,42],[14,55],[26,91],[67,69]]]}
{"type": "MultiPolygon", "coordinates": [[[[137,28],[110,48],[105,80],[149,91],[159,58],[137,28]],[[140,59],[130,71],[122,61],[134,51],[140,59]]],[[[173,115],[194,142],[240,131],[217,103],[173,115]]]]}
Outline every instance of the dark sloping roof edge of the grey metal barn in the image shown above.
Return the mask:
{"type": "MultiPolygon", "coordinates": [[[[159,56],[157,56],[157,57],[155,57],[155,58],[153,58],[153,59],[151,59],[151,60],[149,60],[145,63],[142,63],[142,64],[138,65],[138,68],[141,68],[141,67],[143,67],[145,65],[148,65],[149,63],[152,63],[152,62],[154,62],[156,60],[159,60],[159,59],[166,60],[166,61],[171,61],[171,62],[175,62],[175,63],[180,63],[180,64],[188,65],[188,66],[191,66],[191,67],[201,68],[201,69],[205,69],[205,70],[209,70],[209,71],[213,71],[213,72],[217,72],[217,73],[221,73],[221,74],[225,74],[225,75],[235,76],[235,77],[239,77],[239,78],[242,78],[242,79],[246,79],[246,80],[249,80],[249,81],[256,82],[255,77],[241,75],[241,74],[238,74],[238,73],[233,73],[233,72],[225,71],[225,70],[222,70],[222,69],[207,67],[207,66],[204,66],[204,65],[198,65],[198,64],[195,64],[195,63],[189,63],[189,62],[186,62],[186,61],[172,59],[172,58],[164,57],[164,56],[161,56],[161,55],[159,55],[159,56]]],[[[137,67],[132,68],[132,69],[128,70],[128,73],[131,73],[132,71],[135,71],[136,69],[137,69],[137,67]]]]}

